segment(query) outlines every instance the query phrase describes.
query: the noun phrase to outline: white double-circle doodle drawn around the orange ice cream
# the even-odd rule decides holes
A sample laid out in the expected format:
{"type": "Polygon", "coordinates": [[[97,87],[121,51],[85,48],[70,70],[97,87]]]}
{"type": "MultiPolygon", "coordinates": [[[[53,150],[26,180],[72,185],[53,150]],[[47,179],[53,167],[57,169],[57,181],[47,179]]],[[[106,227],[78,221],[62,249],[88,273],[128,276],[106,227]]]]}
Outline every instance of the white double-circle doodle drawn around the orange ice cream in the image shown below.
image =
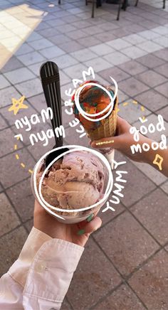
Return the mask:
{"type": "Polygon", "coordinates": [[[102,119],[105,119],[105,118],[112,112],[112,109],[113,109],[113,107],[114,107],[115,98],[117,97],[118,86],[117,86],[117,82],[116,82],[112,77],[110,77],[110,78],[112,79],[112,81],[113,81],[114,84],[115,84],[115,95],[114,95],[114,97],[112,97],[112,95],[110,94],[109,90],[107,90],[105,87],[103,87],[102,85],[100,85],[100,84],[98,84],[98,83],[95,83],[95,82],[88,82],[88,83],[86,83],[86,84],[80,86],[80,87],[78,88],[78,90],[75,92],[75,98],[74,98],[74,100],[75,100],[75,105],[76,105],[76,107],[78,108],[78,111],[80,112],[80,114],[82,114],[83,117],[85,117],[85,119],[88,119],[88,120],[91,121],[91,122],[98,122],[98,121],[100,121],[100,120],[102,120],[102,119]],[[100,111],[100,112],[95,113],[95,114],[90,114],[90,113],[85,112],[85,111],[80,107],[80,102],[79,102],[79,95],[80,95],[80,92],[83,90],[84,87],[86,87],[86,86],[88,86],[88,85],[93,85],[93,86],[100,87],[100,88],[101,88],[102,90],[104,90],[104,91],[107,93],[107,95],[110,97],[110,100],[111,100],[111,101],[110,101],[110,103],[107,105],[107,107],[105,107],[105,109],[103,109],[103,111],[100,111]],[[107,112],[107,114],[103,115],[103,117],[99,117],[98,119],[92,119],[92,118],[90,118],[90,117],[96,117],[96,116],[99,116],[99,115],[105,113],[105,112],[107,111],[107,109],[109,109],[109,108],[110,108],[110,110],[107,112]]]}

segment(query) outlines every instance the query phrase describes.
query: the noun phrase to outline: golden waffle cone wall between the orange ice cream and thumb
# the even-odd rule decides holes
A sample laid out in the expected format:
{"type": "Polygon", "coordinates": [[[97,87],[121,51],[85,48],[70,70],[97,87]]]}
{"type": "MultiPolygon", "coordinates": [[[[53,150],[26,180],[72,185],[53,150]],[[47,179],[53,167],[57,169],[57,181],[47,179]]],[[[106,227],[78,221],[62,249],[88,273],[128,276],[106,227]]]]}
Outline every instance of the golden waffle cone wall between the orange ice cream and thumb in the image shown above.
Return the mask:
{"type": "Polygon", "coordinates": [[[117,105],[118,99],[116,98],[115,108],[112,109],[109,117],[105,119],[104,124],[101,124],[94,130],[88,131],[88,137],[91,139],[91,141],[115,136],[117,127],[117,105]]]}

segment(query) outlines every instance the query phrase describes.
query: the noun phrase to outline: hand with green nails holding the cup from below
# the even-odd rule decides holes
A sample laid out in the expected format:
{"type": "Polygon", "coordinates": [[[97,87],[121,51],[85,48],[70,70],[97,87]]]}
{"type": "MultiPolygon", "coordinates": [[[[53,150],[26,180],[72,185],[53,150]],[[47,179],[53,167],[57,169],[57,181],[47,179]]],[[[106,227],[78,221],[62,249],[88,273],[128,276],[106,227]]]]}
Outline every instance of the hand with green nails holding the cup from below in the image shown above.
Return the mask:
{"type": "Polygon", "coordinates": [[[53,238],[73,242],[76,245],[84,247],[90,233],[100,228],[101,224],[102,221],[100,218],[98,218],[98,216],[94,217],[94,215],[93,220],[90,222],[87,222],[87,220],[83,220],[83,222],[76,224],[58,222],[56,218],[47,213],[46,210],[35,201],[33,225],[38,230],[45,232],[53,238]],[[81,234],[82,232],[83,234],[81,234]]]}

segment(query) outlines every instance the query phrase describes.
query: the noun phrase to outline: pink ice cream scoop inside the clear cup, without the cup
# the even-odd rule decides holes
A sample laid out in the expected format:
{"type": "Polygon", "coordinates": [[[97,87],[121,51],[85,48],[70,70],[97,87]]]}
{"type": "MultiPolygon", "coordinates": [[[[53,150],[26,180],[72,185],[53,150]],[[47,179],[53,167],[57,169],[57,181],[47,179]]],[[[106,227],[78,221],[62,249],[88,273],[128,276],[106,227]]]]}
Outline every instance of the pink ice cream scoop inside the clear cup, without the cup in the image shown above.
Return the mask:
{"type": "MultiPolygon", "coordinates": [[[[44,167],[37,174],[37,183],[44,167]]],[[[47,203],[63,208],[85,208],[102,198],[104,187],[103,164],[88,151],[65,154],[43,178],[41,193],[47,203]]]]}

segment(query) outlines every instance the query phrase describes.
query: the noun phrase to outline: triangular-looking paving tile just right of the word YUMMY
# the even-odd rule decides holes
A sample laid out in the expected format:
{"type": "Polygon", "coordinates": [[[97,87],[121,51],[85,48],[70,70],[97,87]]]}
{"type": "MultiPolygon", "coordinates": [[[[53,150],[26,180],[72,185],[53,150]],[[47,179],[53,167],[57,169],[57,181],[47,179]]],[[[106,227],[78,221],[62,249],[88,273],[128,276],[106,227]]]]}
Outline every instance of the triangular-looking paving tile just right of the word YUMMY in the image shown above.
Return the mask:
{"type": "Polygon", "coordinates": [[[139,169],[135,168],[135,165],[130,161],[127,161],[124,168],[124,170],[127,171],[127,183],[123,189],[124,197],[121,198],[121,202],[123,205],[130,207],[130,205],[136,203],[147,193],[154,190],[156,186],[149,180],[149,178],[147,178],[147,176],[144,176],[139,169]],[[136,193],[136,195],[133,195],[132,193],[136,193]]]}

